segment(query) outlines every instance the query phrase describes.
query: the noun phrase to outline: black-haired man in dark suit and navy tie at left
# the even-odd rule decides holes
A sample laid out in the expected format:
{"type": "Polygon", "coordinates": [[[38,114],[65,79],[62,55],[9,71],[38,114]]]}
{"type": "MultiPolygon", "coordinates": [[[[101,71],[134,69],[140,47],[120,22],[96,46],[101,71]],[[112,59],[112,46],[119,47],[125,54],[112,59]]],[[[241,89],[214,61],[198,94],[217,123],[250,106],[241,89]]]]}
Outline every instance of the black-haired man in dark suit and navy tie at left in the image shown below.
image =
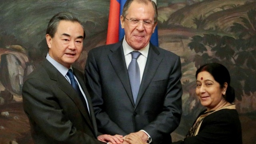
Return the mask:
{"type": "Polygon", "coordinates": [[[119,136],[98,134],[84,75],[71,66],[82,52],[84,38],[81,22],[69,12],[56,14],[48,24],[46,59],[22,88],[35,144],[122,142],[119,136]]]}

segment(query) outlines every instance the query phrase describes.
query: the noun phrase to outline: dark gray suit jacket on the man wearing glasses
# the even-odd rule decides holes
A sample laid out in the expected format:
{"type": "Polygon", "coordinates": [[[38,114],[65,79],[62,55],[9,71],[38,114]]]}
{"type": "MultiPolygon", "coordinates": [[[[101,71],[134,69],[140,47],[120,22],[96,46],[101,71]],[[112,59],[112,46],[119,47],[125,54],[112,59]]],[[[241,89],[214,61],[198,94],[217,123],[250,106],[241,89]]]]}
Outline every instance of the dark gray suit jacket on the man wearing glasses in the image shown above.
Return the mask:
{"type": "Polygon", "coordinates": [[[179,56],[150,44],[136,104],[122,42],[90,50],[85,76],[100,132],[145,130],[153,144],[171,142],[182,113],[179,56]]]}

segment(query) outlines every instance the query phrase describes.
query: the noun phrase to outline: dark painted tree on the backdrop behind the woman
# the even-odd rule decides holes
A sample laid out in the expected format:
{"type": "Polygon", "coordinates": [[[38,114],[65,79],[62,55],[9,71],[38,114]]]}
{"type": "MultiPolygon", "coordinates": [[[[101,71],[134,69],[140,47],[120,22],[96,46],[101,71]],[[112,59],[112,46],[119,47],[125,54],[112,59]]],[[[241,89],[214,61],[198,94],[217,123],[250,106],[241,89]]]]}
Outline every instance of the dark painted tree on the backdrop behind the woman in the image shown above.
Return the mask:
{"type": "Polygon", "coordinates": [[[256,92],[256,10],[249,10],[247,16],[240,17],[242,23],[235,22],[230,27],[234,37],[196,35],[188,44],[196,52],[196,68],[210,62],[218,62],[228,68],[231,86],[238,100],[242,100],[244,94],[250,96],[256,92]]]}

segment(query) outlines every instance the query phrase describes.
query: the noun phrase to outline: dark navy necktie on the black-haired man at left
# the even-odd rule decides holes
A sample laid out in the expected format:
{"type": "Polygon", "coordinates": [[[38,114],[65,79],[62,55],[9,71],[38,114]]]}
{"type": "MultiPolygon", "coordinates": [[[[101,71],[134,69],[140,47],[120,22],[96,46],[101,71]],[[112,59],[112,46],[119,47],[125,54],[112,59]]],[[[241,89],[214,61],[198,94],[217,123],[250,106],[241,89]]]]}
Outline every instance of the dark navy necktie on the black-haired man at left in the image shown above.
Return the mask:
{"type": "Polygon", "coordinates": [[[83,104],[85,106],[86,111],[88,112],[88,114],[90,114],[89,111],[88,111],[88,108],[87,108],[86,100],[84,99],[84,95],[82,94],[82,92],[81,92],[81,90],[80,90],[80,88],[78,86],[78,83],[75,80],[75,77],[74,77],[72,69],[68,69],[67,76],[70,79],[71,86],[74,88],[74,90],[76,90],[76,92],[78,93],[80,99],[82,100],[82,102],[83,102],[83,104]]]}

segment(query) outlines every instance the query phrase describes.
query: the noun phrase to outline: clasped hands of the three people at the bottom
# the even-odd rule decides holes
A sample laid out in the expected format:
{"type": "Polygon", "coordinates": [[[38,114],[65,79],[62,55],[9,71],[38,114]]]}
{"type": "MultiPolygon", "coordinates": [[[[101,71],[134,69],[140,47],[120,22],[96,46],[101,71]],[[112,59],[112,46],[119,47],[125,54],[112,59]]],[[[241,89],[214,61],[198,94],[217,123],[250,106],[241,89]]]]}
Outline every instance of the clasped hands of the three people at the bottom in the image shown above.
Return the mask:
{"type": "Polygon", "coordinates": [[[98,136],[98,140],[108,144],[148,144],[148,135],[143,131],[130,133],[126,136],[104,134],[98,136]]]}

